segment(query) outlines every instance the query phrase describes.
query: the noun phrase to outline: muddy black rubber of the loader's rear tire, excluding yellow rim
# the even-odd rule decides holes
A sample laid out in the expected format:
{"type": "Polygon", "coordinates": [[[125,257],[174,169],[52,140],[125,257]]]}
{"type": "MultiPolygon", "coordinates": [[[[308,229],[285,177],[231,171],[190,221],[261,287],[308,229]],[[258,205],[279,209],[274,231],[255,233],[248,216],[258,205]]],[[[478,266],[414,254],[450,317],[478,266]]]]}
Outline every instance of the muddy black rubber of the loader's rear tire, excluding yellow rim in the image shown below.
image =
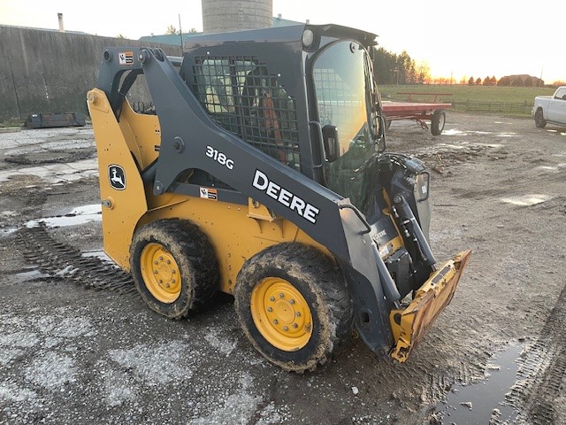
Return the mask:
{"type": "Polygon", "coordinates": [[[208,237],[187,220],[156,220],[135,234],[130,246],[134,284],[149,308],[169,319],[181,319],[202,307],[219,288],[218,259],[208,237]],[[172,303],[155,298],[142,277],[141,255],[148,243],[160,243],[180,268],[180,295],[172,303]]]}

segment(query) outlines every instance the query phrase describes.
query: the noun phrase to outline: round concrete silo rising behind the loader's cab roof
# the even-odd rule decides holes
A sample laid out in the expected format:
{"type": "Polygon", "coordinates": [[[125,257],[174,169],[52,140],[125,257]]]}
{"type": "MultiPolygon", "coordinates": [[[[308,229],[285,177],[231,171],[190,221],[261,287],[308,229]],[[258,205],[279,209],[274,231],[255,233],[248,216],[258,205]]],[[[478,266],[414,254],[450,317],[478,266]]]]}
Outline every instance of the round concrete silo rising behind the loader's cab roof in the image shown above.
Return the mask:
{"type": "Polygon", "coordinates": [[[272,0],[202,0],[203,31],[225,33],[273,25],[272,0]]]}

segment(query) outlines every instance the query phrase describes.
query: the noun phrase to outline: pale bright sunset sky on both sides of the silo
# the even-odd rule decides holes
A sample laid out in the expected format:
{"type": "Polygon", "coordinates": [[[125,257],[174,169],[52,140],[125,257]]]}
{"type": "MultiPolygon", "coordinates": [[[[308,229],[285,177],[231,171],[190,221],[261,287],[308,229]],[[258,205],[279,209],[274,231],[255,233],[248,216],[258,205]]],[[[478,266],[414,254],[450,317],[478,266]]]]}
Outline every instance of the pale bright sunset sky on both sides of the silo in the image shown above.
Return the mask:
{"type": "MultiPolygon", "coordinates": [[[[201,0],[148,3],[98,0],[0,0],[0,25],[58,28],[96,35],[164,34],[167,27],[203,29],[201,0]]],[[[497,79],[514,73],[566,81],[566,2],[504,0],[435,2],[367,0],[273,0],[273,15],[311,24],[339,24],[379,35],[381,47],[406,50],[432,77],[497,79]]]]}

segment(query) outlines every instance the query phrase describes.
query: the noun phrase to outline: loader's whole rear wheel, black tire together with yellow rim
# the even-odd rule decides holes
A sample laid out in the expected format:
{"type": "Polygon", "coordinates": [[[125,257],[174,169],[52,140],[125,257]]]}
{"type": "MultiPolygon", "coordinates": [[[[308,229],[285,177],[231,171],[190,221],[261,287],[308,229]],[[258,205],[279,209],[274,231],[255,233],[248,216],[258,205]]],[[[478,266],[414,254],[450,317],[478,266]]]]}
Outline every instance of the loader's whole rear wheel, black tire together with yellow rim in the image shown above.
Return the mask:
{"type": "Polygon", "coordinates": [[[218,290],[218,260],[207,236],[187,220],[139,228],[130,246],[134,284],[149,308],[180,319],[218,290]]]}

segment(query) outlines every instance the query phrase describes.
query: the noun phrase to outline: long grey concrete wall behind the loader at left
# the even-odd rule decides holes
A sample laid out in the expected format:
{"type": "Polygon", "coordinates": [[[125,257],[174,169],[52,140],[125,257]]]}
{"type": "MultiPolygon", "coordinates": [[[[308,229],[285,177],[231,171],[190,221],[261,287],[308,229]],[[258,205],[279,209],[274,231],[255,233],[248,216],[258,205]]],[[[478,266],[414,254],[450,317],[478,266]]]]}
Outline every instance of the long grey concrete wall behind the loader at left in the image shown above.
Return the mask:
{"type": "Polygon", "coordinates": [[[0,26],[0,122],[34,112],[85,112],[96,86],[104,47],[180,48],[136,40],[0,26]]]}

